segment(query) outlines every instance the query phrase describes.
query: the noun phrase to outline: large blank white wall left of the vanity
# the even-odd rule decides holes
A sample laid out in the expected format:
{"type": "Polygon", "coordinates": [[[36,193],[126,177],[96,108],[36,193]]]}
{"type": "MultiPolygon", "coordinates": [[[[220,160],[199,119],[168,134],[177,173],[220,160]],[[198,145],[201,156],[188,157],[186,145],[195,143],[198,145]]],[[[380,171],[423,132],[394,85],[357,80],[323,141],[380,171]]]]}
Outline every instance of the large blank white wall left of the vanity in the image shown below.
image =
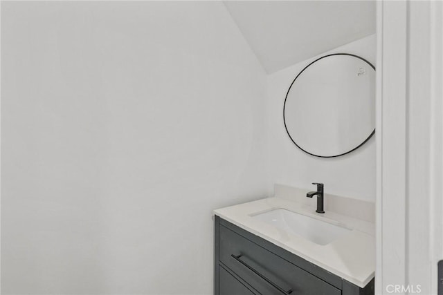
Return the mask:
{"type": "Polygon", "coordinates": [[[268,187],[266,76],[224,5],[1,6],[2,294],[211,294],[211,210],[268,187]]]}

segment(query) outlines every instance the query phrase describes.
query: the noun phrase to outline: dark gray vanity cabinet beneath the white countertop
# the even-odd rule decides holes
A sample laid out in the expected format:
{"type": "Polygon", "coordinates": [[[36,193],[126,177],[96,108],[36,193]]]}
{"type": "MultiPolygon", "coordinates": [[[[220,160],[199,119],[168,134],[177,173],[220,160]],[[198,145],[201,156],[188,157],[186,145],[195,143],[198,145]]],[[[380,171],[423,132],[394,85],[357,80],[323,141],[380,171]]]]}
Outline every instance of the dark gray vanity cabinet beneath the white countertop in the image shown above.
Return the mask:
{"type": "Polygon", "coordinates": [[[215,295],[369,295],[327,272],[215,216],[215,295]]]}

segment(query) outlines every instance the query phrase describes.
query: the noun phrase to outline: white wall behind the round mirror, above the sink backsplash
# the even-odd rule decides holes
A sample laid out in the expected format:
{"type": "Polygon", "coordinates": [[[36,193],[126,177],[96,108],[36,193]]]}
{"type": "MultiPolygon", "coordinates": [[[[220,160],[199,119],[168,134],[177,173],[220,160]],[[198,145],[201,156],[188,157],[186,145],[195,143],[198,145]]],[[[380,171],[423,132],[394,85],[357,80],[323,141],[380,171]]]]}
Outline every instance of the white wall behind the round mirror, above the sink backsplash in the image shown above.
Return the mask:
{"type": "MultiPolygon", "coordinates": [[[[376,37],[370,35],[268,76],[269,179],[271,184],[281,183],[314,189],[311,182],[323,182],[327,193],[374,202],[374,137],[356,151],[338,158],[317,158],[308,155],[291,142],[284,129],[283,104],[293,79],[314,59],[329,53],[352,53],[375,65],[375,52],[376,37]]],[[[321,120],[321,118],[312,118],[313,122],[316,120],[321,120]]]]}

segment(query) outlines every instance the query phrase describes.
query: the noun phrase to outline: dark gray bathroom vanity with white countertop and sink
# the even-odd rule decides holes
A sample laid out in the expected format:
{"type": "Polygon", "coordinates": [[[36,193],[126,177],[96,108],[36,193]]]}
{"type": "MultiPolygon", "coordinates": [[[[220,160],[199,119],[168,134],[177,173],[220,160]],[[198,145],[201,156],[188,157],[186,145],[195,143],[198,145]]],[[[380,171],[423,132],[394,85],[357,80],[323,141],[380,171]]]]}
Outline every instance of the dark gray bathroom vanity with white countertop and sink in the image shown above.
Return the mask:
{"type": "Polygon", "coordinates": [[[284,198],[214,213],[215,294],[374,294],[372,222],[284,198]]]}

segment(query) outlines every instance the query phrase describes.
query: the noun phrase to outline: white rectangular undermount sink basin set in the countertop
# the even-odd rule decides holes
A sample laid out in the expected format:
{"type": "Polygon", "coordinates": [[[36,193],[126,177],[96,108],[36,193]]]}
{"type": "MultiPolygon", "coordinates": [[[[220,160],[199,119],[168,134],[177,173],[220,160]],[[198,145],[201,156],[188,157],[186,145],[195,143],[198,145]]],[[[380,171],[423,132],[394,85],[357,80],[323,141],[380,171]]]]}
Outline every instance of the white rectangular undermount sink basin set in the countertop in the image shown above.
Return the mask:
{"type": "Polygon", "coordinates": [[[329,242],[344,236],[352,231],[345,227],[333,225],[332,223],[311,218],[286,209],[273,209],[264,213],[251,216],[269,225],[284,229],[292,234],[302,236],[318,245],[327,245],[329,242]]]}

